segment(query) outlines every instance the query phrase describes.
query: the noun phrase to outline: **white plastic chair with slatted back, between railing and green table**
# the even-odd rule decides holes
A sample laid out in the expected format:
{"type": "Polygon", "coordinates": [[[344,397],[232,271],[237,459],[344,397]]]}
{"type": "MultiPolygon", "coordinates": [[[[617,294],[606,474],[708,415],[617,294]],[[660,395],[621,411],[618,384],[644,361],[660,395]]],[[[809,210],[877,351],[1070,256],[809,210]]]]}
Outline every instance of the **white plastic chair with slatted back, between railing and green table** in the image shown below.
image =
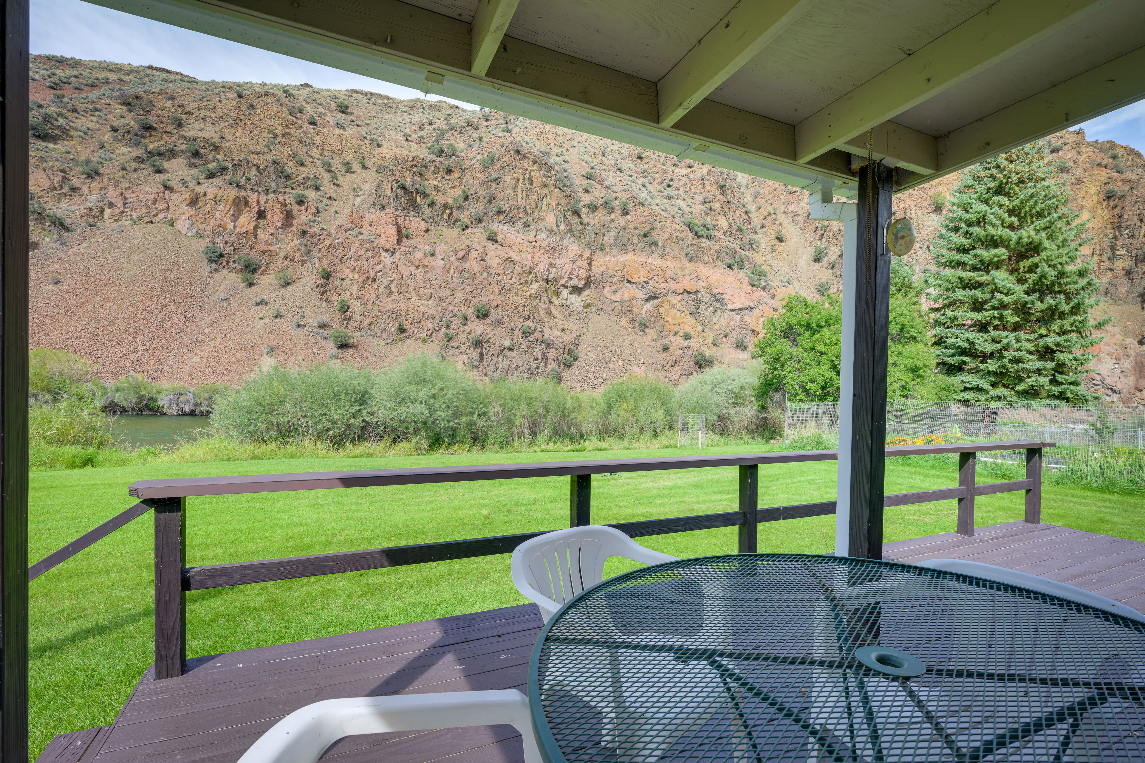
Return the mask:
{"type": "Polygon", "coordinates": [[[605,562],[623,556],[643,564],[679,562],[645,548],[615,527],[569,527],[527,540],[513,551],[513,585],[540,607],[545,622],[561,605],[605,579],[605,562]]]}

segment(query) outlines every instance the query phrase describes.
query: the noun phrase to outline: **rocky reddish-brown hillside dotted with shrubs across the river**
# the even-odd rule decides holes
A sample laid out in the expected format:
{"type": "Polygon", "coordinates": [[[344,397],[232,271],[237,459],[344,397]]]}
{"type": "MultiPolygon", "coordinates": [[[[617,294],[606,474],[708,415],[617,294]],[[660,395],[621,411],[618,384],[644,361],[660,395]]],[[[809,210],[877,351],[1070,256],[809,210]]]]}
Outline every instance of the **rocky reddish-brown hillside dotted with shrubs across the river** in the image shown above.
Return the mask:
{"type": "MultiPolygon", "coordinates": [[[[767,181],[363,90],[54,56],[33,56],[32,77],[32,343],[109,377],[235,382],[275,359],[434,349],[579,389],[680,381],[743,363],[788,294],[838,288],[842,228],[767,181]],[[333,347],[335,327],[352,347],[333,347]]],[[[1145,162],[1053,141],[1116,318],[1093,388],[1145,402],[1145,162]]],[[[956,182],[898,199],[919,270],[931,196],[956,182]]]]}

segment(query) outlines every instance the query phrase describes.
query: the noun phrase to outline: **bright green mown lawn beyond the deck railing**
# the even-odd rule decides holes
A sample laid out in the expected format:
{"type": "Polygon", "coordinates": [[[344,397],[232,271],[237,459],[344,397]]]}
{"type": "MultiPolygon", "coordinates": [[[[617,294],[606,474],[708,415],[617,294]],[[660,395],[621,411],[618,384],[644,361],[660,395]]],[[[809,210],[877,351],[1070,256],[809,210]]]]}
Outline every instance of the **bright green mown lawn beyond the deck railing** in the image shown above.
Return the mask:
{"type": "MultiPolygon", "coordinates": [[[[704,453],[750,452],[750,447],[704,453]]],[[[152,464],[31,475],[30,559],[42,558],[132,504],[137,479],[466,463],[687,455],[687,450],[493,453],[152,464]]],[[[887,462],[887,492],[956,484],[954,463],[887,462]]],[[[760,469],[761,507],[829,500],[835,462],[760,469]]],[[[979,482],[996,482],[980,478],[979,482]]],[[[732,510],[734,468],[593,479],[598,523],[732,510]]],[[[1140,496],[1047,487],[1043,519],[1145,540],[1140,496]]],[[[1021,518],[1019,493],[978,499],[978,524],[1021,518]]],[[[834,517],[760,526],[763,551],[834,549],[834,517]]],[[[270,493],[192,499],[188,563],[214,564],[476,538],[568,524],[568,478],[270,493]]],[[[955,527],[954,501],[887,510],[886,540],[955,527]]],[[[152,661],[152,524],[144,515],[31,583],[33,756],[55,733],[114,720],[152,661]]],[[[734,551],[735,528],[642,539],[677,556],[734,551]]],[[[523,603],[508,556],[240,586],[188,596],[191,655],[327,636],[523,603]]],[[[615,564],[609,573],[624,567],[615,564]]]]}

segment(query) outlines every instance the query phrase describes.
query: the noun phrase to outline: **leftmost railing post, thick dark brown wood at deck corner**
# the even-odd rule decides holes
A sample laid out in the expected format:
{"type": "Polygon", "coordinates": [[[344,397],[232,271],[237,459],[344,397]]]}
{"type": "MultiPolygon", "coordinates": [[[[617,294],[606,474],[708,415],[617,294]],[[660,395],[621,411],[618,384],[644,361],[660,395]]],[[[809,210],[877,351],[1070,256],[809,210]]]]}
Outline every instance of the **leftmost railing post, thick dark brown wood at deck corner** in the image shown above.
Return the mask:
{"type": "Polygon", "coordinates": [[[187,499],[155,503],[155,677],[183,675],[187,662],[187,499]]]}

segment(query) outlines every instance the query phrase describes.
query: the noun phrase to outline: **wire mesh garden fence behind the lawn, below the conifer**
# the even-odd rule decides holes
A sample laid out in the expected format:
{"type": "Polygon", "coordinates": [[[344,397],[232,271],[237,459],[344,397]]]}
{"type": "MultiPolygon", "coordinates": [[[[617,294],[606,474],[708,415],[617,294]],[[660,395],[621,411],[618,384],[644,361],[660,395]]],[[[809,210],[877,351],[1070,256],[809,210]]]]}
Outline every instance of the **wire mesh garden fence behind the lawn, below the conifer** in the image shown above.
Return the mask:
{"type": "MultiPolygon", "coordinates": [[[[787,403],[784,440],[838,437],[838,403],[787,403]]],[[[1145,486],[1145,411],[1121,405],[1014,403],[1001,407],[969,403],[895,400],[886,406],[887,445],[1036,439],[1057,443],[1043,466],[1051,475],[1090,484],[1145,486]]],[[[981,456],[980,456],[981,458],[981,456]]],[[[1017,467],[1019,452],[981,460],[1017,467]]]]}

